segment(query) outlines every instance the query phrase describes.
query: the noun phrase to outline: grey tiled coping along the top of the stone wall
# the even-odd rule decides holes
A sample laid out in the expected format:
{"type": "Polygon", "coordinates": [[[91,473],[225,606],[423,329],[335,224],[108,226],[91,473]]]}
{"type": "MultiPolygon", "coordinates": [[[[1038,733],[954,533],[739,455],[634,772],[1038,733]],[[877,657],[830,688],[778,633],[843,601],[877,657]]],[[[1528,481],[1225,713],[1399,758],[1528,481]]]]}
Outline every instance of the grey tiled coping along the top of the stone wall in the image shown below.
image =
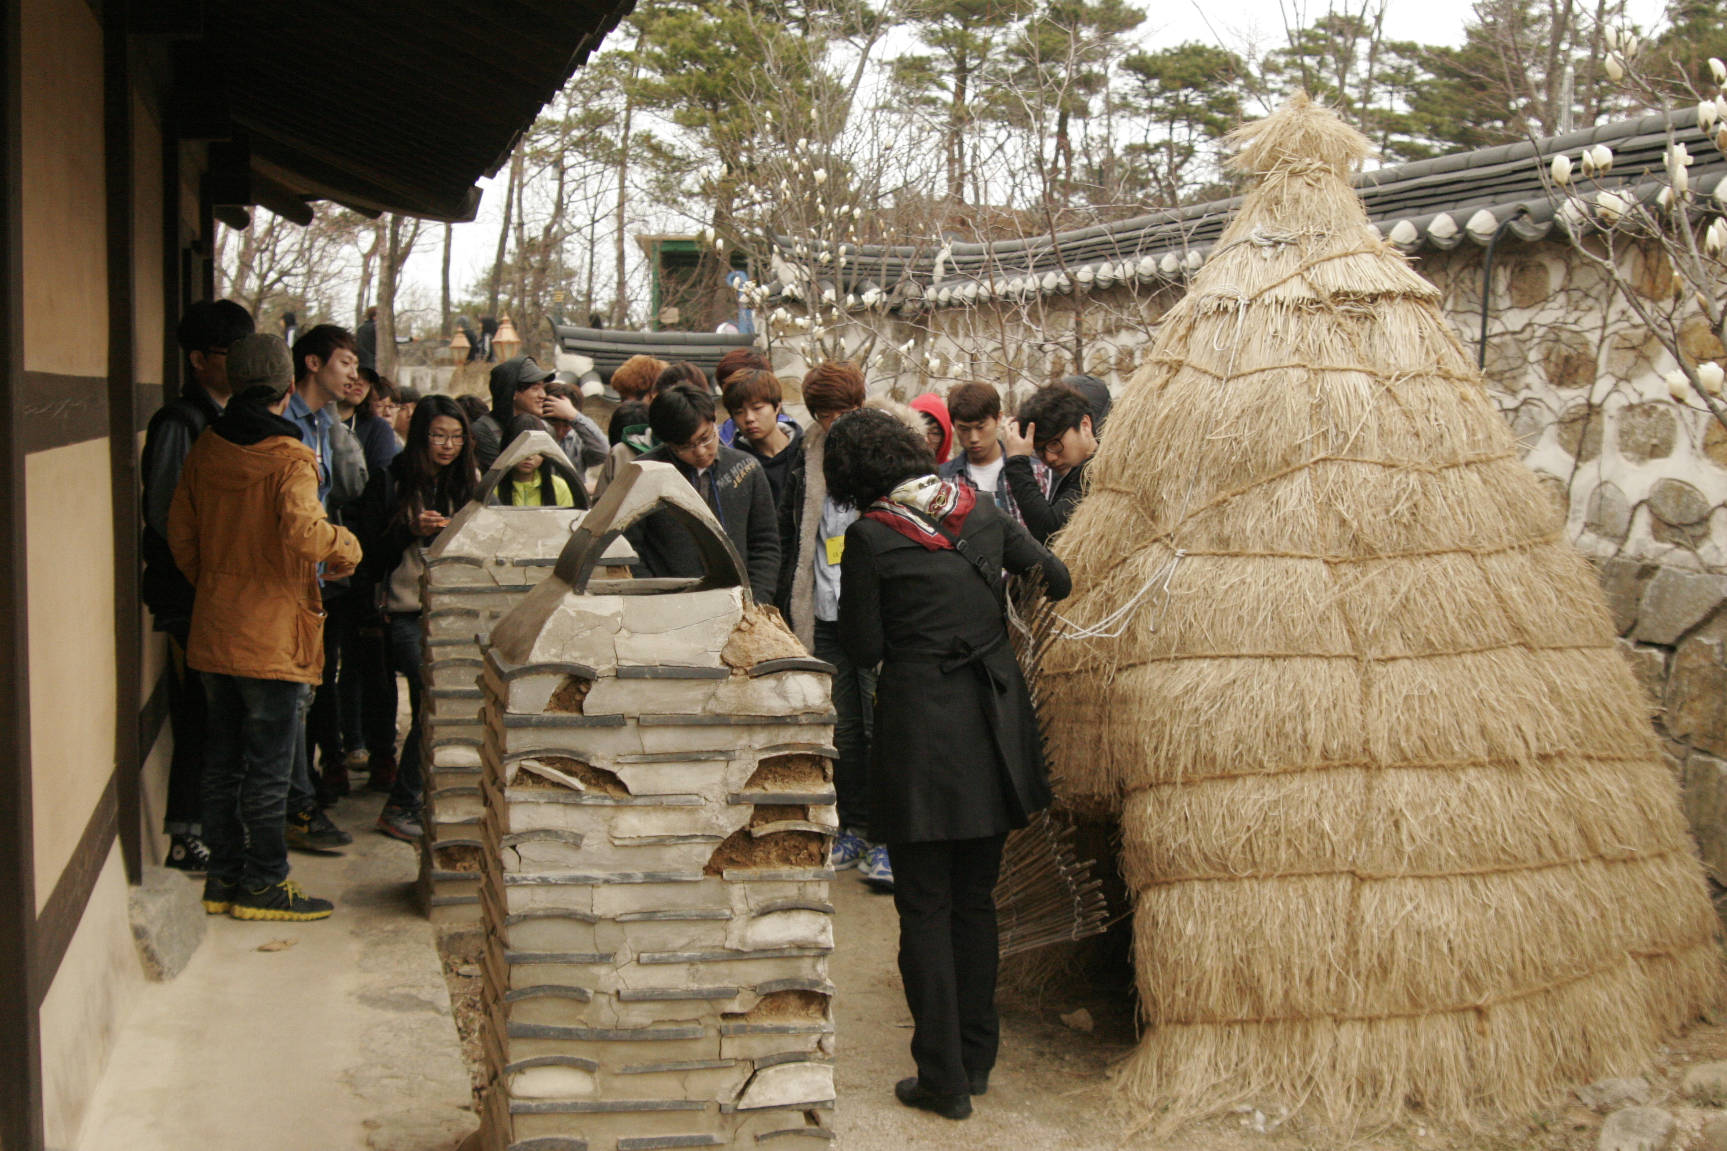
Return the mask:
{"type": "MultiPolygon", "coordinates": [[[[1542,173],[1554,155],[1573,160],[1589,145],[1613,150],[1613,171],[1589,192],[1627,190],[1646,202],[1660,192],[1656,176],[1673,140],[1696,157],[1691,185],[1708,195],[1727,174],[1727,159],[1696,124],[1689,110],[1618,121],[1535,142],[1458,152],[1430,160],[1382,167],[1356,176],[1368,219],[1402,252],[1487,245],[1506,221],[1504,238],[1547,238],[1559,219],[1561,202],[1549,195],[1542,173]]],[[[860,302],[895,311],[955,307],[993,299],[1026,299],[1117,283],[1142,285],[1181,280],[1204,264],[1242,198],[1212,200],[1150,212],[1114,224],[1057,231],[1024,240],[950,243],[933,247],[862,245],[848,248],[841,281],[824,280],[824,290],[845,290],[860,302]]],[[[793,252],[781,240],[782,252],[793,252]]],[[[800,261],[801,262],[801,261],[800,261]]],[[[781,285],[775,285],[781,290],[781,285]]],[[[791,295],[791,293],[786,293],[791,295]]]]}

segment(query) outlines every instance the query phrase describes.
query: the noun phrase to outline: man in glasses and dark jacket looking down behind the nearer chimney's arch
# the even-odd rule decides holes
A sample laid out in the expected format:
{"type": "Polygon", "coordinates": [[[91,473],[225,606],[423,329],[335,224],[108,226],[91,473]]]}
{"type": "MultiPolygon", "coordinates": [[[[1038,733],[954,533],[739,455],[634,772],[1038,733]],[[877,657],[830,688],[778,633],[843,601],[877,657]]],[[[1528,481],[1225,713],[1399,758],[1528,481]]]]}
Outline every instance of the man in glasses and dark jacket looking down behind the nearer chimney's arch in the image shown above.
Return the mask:
{"type": "MultiPolygon", "coordinates": [[[[689,480],[743,556],[755,602],[772,604],[779,582],[774,488],[753,456],[720,443],[713,411],[713,397],[693,383],[677,383],[660,392],[648,407],[648,426],[660,438],[660,447],[644,452],[636,462],[672,464],[689,480]]],[[[696,550],[694,537],[670,514],[661,511],[646,516],[623,535],[641,556],[636,575],[701,575],[701,552],[696,550]]]]}

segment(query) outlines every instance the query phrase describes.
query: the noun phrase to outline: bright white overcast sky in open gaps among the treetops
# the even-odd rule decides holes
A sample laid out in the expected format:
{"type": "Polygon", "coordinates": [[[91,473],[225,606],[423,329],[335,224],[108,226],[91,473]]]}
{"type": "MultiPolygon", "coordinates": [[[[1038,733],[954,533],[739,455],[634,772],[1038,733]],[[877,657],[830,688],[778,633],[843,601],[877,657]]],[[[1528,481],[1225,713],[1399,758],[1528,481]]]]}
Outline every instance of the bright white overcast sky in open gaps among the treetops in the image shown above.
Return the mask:
{"type": "MultiPolygon", "coordinates": [[[[1335,0],[1337,9],[1357,9],[1361,0],[1335,0]]],[[[1145,3],[1148,12],[1138,38],[1148,48],[1167,48],[1197,40],[1240,48],[1257,41],[1275,45],[1285,36],[1285,24],[1302,26],[1321,16],[1328,0],[1164,0],[1145,3]]],[[[1390,0],[1385,31],[1392,40],[1414,40],[1432,45],[1463,43],[1463,24],[1470,17],[1470,0],[1390,0]]],[[[1648,29],[1660,21],[1665,0],[1630,0],[1630,19],[1648,29]]],[[[503,178],[499,178],[499,183],[503,178]]],[[[482,186],[484,181],[482,181],[482,186]]],[[[465,283],[473,283],[492,259],[497,243],[497,197],[487,195],[480,217],[471,224],[456,224],[451,257],[451,281],[456,293],[465,283]]],[[[430,242],[406,269],[406,281],[416,285],[430,300],[437,300],[439,262],[442,261],[442,230],[430,228],[430,242]]],[[[632,245],[632,262],[636,250],[632,245]]]]}

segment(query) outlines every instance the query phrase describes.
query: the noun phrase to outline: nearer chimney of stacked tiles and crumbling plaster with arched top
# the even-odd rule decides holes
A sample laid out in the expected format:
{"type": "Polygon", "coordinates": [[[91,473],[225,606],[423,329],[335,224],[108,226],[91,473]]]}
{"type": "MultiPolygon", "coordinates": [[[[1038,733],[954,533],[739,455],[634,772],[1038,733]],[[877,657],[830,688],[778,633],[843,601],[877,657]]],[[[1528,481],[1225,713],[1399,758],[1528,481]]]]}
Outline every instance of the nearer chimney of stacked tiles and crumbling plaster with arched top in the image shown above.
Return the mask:
{"type": "Polygon", "coordinates": [[[832,668],[632,464],[484,649],[487,1151],[826,1146],[832,668]],[[596,580],[649,511],[699,580],[596,580]]]}

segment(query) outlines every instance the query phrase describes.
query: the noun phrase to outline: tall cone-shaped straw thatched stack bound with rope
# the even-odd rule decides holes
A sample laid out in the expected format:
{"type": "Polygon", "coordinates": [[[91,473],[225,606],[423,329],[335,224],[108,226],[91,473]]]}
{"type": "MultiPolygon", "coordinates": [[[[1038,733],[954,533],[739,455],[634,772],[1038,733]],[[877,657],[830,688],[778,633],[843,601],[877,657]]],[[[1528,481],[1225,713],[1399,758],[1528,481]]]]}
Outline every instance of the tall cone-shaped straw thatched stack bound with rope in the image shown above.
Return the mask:
{"type": "Polygon", "coordinates": [[[1295,98],[1235,142],[1259,183],[1059,538],[1069,620],[1152,587],[1043,676],[1064,787],[1121,809],[1121,1089],[1356,1123],[1630,1072],[1722,973],[1601,592],[1368,228],[1366,138],[1295,98]]]}

